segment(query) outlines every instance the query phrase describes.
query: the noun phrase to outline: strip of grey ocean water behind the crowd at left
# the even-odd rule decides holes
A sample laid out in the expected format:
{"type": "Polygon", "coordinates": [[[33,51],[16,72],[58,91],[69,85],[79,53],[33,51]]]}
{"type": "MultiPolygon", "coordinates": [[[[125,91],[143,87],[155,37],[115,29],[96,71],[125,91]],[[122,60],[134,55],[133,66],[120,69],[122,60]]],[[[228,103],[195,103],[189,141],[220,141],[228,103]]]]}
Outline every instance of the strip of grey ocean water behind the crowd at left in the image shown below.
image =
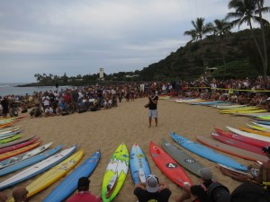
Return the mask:
{"type": "MultiPolygon", "coordinates": [[[[15,87],[20,84],[27,84],[27,83],[0,83],[0,96],[5,96],[9,94],[25,95],[26,93],[31,95],[33,92],[46,92],[57,90],[55,86],[15,87]]],[[[59,86],[58,91],[60,91],[61,89],[65,90],[67,88],[70,88],[70,86],[59,86]]]]}

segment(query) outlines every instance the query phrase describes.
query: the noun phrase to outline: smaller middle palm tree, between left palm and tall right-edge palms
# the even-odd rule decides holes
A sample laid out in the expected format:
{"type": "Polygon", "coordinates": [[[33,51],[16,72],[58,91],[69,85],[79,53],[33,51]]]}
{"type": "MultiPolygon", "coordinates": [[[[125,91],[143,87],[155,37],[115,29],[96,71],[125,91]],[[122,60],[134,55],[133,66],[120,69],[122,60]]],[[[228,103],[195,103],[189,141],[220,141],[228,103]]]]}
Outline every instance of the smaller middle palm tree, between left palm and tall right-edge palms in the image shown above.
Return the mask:
{"type": "Polygon", "coordinates": [[[227,22],[225,19],[223,20],[216,19],[214,20],[214,23],[215,23],[215,26],[213,27],[213,31],[215,35],[220,36],[221,55],[223,59],[223,64],[225,66],[226,63],[225,63],[225,57],[224,57],[224,52],[223,52],[223,39],[225,35],[230,33],[231,26],[229,22],[227,22]]]}

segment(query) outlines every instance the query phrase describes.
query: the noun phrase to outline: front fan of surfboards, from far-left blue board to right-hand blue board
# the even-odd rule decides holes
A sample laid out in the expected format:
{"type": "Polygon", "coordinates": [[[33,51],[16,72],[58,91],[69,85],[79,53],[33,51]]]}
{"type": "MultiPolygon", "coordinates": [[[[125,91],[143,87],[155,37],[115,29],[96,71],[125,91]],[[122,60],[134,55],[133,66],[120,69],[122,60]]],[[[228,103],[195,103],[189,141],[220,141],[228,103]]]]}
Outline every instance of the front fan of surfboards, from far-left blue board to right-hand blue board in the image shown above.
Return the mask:
{"type": "MultiPolygon", "coordinates": [[[[198,146],[197,143],[189,141],[183,136],[179,136],[173,132],[170,136],[177,144],[182,145],[185,149],[188,149],[194,154],[198,154],[212,162],[222,163],[225,166],[247,171],[246,166],[229,159],[229,157],[226,157],[225,155],[215,153],[206,146],[198,146]]],[[[14,186],[23,180],[30,179],[33,176],[51,168],[26,187],[26,189],[29,190],[28,197],[31,197],[40,192],[40,190],[47,188],[50,184],[67,174],[67,171],[71,171],[83,157],[83,150],[79,150],[76,154],[73,154],[76,150],[76,145],[56,154],[63,146],[64,145],[58,145],[47,152],[43,152],[42,154],[38,154],[29,159],[15,163],[14,165],[21,166],[21,169],[23,166],[29,167],[16,173],[11,178],[2,181],[0,183],[0,189],[6,189],[10,186],[14,186]],[[33,162],[36,163],[33,164],[33,162]]],[[[175,145],[170,144],[165,138],[162,139],[162,146],[164,150],[153,142],[149,143],[149,152],[157,167],[163,171],[170,180],[173,180],[181,187],[183,187],[185,183],[193,184],[183,167],[197,175],[197,171],[203,168],[202,164],[197,162],[190,155],[184,153],[183,150],[180,150],[175,145]]],[[[68,175],[68,177],[62,181],[47,198],[44,198],[43,201],[62,201],[67,198],[76,189],[76,181],[80,177],[89,177],[94,171],[94,168],[100,159],[100,155],[100,151],[95,152],[89,159],[76,168],[75,171],[68,175]]],[[[9,168],[12,168],[14,165],[9,166],[9,168]]],[[[150,174],[148,160],[137,144],[132,146],[130,155],[127,146],[124,144],[119,145],[112,154],[111,160],[108,163],[103,177],[103,201],[112,201],[112,199],[117,196],[124,180],[126,179],[129,167],[132,180],[135,184],[139,181],[146,181],[148,174],[150,174]]],[[[8,201],[13,200],[9,199],[8,201]]]]}

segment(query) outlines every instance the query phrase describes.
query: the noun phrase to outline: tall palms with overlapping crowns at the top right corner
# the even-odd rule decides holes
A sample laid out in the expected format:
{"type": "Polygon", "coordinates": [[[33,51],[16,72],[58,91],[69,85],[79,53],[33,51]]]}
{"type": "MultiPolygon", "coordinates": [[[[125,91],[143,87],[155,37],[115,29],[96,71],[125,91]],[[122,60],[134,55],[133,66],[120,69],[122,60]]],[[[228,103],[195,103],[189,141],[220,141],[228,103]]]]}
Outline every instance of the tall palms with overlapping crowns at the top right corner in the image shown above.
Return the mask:
{"type": "Polygon", "coordinates": [[[235,9],[234,13],[228,13],[226,19],[235,19],[231,23],[232,26],[238,25],[240,27],[243,23],[247,23],[249,26],[250,34],[252,39],[255,42],[255,45],[258,50],[258,54],[261,58],[263,65],[263,73],[266,78],[267,74],[267,51],[266,51],[266,37],[264,33],[264,27],[269,24],[266,19],[262,18],[262,13],[266,13],[270,11],[269,7],[263,7],[264,0],[231,0],[229,2],[229,9],[235,9]],[[257,16],[259,14],[259,16],[257,16]],[[252,22],[257,22],[261,26],[262,30],[262,39],[264,46],[264,54],[261,48],[258,45],[257,39],[253,33],[252,22]]]}

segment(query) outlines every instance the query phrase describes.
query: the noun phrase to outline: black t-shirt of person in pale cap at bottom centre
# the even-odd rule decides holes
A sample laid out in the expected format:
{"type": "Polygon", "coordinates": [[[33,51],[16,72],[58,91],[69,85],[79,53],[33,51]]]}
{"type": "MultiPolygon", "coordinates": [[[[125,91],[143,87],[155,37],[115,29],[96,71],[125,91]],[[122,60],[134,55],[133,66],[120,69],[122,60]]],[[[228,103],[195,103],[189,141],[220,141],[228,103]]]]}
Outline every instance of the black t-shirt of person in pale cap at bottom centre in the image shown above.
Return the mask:
{"type": "Polygon", "coordinates": [[[139,199],[139,202],[167,202],[172,192],[170,189],[162,189],[156,193],[150,193],[146,189],[134,189],[134,195],[139,199]]]}

